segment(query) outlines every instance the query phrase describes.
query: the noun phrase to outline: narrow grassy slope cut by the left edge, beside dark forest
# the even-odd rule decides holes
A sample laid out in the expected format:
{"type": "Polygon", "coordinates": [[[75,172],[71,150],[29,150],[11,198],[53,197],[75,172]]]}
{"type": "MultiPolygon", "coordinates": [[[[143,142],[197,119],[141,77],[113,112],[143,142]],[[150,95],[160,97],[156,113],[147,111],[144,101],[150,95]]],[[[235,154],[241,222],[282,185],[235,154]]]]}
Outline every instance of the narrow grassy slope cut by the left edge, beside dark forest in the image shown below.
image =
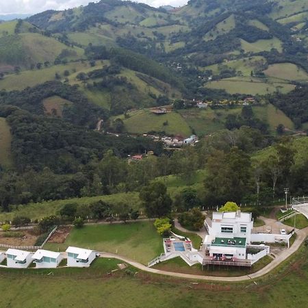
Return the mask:
{"type": "Polygon", "coordinates": [[[0,165],[9,168],[12,166],[11,156],[12,136],[10,127],[5,118],[0,118],[0,165]]]}

